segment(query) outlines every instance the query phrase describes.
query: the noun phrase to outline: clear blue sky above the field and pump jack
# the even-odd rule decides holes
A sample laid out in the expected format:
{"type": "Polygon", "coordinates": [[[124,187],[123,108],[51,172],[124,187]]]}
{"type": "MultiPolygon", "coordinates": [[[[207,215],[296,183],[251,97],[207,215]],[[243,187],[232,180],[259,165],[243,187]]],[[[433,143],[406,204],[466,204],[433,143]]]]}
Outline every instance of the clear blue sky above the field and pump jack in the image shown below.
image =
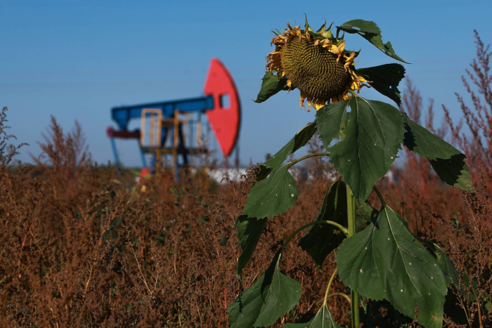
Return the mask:
{"type": "MultiPolygon", "coordinates": [[[[422,96],[459,118],[454,92],[474,58],[473,29],[492,42],[491,0],[413,1],[22,1],[0,0],[0,106],[11,133],[30,143],[18,157],[39,154],[50,114],[70,129],[77,119],[100,163],[112,160],[105,128],[115,105],[200,96],[209,60],[220,58],[242,100],[240,159],[261,162],[313,120],[299,110],[299,91],[256,104],[271,29],[285,22],[313,27],[374,20],[391,41],[422,96]]],[[[358,67],[394,63],[361,37],[358,67]]],[[[363,89],[361,96],[384,100],[363,89]]],[[[391,102],[391,100],[388,100],[391,102]]],[[[436,119],[441,119],[437,115],[436,119]]],[[[122,161],[139,165],[134,142],[118,143],[122,161]]]]}

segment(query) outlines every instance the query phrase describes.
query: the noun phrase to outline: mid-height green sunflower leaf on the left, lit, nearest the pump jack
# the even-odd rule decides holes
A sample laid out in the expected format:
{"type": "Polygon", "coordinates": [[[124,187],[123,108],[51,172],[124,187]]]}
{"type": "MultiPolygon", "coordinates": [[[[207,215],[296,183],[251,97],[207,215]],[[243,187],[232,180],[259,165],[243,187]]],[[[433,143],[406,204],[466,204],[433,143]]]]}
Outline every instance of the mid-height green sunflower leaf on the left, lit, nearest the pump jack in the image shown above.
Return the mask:
{"type": "Polygon", "coordinates": [[[250,218],[268,218],[290,209],[299,197],[299,188],[288,168],[289,163],[279,166],[268,178],[255,184],[242,214],[250,218]]]}

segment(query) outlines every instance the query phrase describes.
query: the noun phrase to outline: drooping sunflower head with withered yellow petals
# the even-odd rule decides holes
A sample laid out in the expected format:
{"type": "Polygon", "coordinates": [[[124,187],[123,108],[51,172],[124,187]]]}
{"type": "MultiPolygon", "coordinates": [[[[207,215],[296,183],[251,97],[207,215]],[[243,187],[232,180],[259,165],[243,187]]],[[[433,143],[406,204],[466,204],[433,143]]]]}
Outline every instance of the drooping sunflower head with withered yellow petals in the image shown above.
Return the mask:
{"type": "Polygon", "coordinates": [[[313,32],[306,21],[305,29],[292,27],[287,22],[285,31],[278,31],[271,40],[275,50],[266,56],[267,72],[287,78],[288,91],[301,91],[301,107],[311,106],[319,110],[327,103],[346,100],[357,93],[364,82],[370,82],[356,74],[354,59],[358,53],[345,50],[345,41],[333,37],[331,25],[326,23],[313,32]]]}

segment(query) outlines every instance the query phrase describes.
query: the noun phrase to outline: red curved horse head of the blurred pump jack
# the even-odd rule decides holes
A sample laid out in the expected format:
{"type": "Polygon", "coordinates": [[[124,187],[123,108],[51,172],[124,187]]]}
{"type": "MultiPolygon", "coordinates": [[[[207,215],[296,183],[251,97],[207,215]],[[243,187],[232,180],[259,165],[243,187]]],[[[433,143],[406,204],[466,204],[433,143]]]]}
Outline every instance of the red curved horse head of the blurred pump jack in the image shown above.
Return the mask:
{"type": "Polygon", "coordinates": [[[216,58],[212,58],[210,63],[205,81],[205,94],[214,96],[214,109],[207,110],[206,114],[222,153],[228,157],[238,141],[241,105],[231,74],[216,58]],[[224,108],[221,99],[226,95],[229,101],[228,106],[224,108]]]}

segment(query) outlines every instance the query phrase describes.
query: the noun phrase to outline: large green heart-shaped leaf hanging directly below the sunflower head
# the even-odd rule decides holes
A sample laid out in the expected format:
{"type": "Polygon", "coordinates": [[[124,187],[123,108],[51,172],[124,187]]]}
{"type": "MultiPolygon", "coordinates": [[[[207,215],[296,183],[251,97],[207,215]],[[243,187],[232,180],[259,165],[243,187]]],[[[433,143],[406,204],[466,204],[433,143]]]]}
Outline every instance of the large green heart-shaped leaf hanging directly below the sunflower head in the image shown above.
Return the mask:
{"type": "Polygon", "coordinates": [[[325,147],[343,139],[330,147],[331,162],[362,203],[401,149],[405,130],[399,110],[352,96],[318,110],[316,126],[325,147]]]}

